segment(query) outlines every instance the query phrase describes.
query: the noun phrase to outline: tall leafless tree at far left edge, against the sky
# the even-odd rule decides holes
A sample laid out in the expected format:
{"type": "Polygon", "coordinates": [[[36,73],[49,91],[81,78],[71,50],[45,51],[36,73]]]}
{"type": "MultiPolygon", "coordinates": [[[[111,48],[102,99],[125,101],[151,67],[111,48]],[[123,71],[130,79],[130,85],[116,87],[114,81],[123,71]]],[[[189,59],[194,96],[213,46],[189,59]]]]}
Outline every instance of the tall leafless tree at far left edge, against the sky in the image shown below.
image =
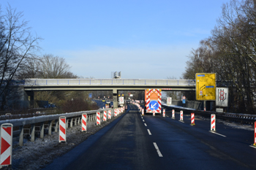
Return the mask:
{"type": "Polygon", "coordinates": [[[39,48],[39,37],[32,36],[28,22],[22,18],[23,12],[16,12],[10,5],[6,14],[0,16],[0,96],[3,98],[1,109],[4,107],[11,81],[39,48]]]}

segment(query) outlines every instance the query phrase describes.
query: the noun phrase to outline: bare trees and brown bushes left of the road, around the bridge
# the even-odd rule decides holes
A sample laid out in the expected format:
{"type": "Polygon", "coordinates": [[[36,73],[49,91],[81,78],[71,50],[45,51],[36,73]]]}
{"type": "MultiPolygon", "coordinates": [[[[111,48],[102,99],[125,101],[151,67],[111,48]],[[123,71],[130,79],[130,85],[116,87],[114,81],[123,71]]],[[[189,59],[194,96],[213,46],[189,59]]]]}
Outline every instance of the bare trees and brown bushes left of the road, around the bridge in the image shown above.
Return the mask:
{"type": "MultiPolygon", "coordinates": [[[[13,80],[26,78],[61,79],[79,78],[70,72],[64,58],[52,54],[37,55],[42,40],[31,33],[29,23],[23,19],[23,12],[17,12],[10,5],[3,12],[0,7],[0,110],[20,109],[19,92],[12,88],[13,80]]],[[[44,91],[34,92],[35,101],[49,101],[63,112],[95,109],[86,91],[44,91]]],[[[37,102],[34,103],[35,107],[37,102]]]]}

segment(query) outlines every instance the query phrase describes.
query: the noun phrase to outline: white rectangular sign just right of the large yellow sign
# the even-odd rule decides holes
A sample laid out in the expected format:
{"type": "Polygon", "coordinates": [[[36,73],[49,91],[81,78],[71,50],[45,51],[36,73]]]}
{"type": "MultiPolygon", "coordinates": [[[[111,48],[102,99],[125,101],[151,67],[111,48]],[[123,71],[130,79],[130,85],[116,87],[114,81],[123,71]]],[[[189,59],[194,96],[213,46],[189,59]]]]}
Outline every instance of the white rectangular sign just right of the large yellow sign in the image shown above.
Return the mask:
{"type": "Polygon", "coordinates": [[[216,106],[228,106],[228,88],[216,88],[216,106]]]}

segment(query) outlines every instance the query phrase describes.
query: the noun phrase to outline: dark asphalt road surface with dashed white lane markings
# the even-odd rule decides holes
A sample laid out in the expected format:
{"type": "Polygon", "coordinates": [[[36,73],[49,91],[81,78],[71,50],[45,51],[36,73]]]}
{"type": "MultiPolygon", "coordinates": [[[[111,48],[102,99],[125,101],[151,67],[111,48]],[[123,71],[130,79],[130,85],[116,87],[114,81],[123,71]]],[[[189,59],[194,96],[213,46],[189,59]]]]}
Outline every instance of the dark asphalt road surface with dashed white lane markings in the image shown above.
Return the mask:
{"type": "Polygon", "coordinates": [[[170,112],[141,116],[129,107],[97,139],[90,136],[75,148],[75,157],[67,154],[70,163],[59,169],[256,169],[253,131],[217,123],[213,134],[209,120],[196,119],[192,126],[188,116],[182,123],[178,113],[173,120],[170,112]]]}

